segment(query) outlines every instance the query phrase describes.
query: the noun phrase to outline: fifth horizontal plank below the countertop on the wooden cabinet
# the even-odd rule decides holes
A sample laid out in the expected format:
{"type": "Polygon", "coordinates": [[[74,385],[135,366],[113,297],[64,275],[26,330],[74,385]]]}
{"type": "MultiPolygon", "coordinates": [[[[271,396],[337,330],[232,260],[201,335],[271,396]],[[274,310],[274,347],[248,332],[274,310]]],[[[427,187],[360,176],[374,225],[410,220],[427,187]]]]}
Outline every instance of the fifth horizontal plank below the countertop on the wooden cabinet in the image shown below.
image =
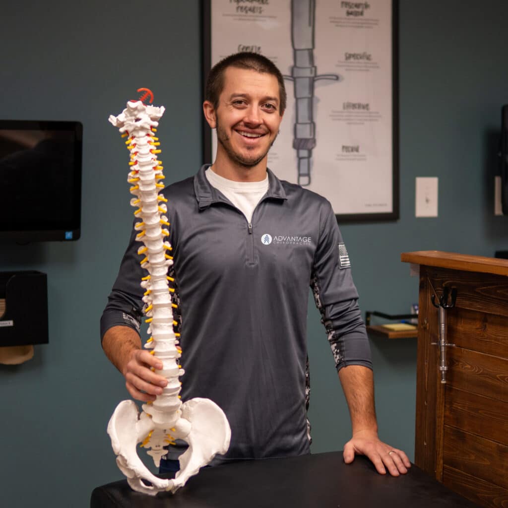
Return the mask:
{"type": "Polygon", "coordinates": [[[508,489],[508,447],[444,426],[444,465],[508,489]]]}

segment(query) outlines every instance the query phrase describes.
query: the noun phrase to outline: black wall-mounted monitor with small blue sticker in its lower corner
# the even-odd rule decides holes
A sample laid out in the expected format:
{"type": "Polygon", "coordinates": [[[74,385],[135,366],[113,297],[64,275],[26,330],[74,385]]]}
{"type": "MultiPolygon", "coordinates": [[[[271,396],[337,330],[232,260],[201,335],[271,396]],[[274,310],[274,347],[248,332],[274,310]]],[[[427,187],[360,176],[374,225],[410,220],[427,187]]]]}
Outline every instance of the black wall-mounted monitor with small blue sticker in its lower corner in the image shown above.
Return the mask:
{"type": "Polygon", "coordinates": [[[0,120],[0,239],[77,240],[83,126],[0,120]]]}

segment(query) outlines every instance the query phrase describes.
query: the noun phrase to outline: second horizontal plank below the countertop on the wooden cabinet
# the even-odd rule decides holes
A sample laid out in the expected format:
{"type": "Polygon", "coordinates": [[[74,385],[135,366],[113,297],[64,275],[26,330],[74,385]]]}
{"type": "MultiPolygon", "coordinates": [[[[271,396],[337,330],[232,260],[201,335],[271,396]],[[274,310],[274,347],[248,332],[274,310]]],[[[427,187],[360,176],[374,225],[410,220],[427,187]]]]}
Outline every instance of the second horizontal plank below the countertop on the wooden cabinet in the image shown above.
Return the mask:
{"type": "Polygon", "coordinates": [[[448,312],[448,341],[469,350],[508,358],[508,317],[452,309],[448,312]]]}

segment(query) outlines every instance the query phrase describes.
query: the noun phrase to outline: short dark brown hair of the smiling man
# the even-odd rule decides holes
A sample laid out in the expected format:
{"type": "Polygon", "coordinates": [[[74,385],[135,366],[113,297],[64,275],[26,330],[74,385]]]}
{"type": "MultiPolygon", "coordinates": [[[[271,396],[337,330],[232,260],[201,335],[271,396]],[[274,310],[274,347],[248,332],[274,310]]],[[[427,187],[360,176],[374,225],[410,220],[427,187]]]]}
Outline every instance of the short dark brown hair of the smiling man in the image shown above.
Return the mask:
{"type": "Polygon", "coordinates": [[[259,53],[244,51],[234,53],[223,58],[216,63],[208,74],[205,88],[205,100],[210,101],[215,109],[219,105],[219,97],[224,90],[224,73],[228,67],[236,67],[237,69],[248,69],[260,73],[267,73],[275,76],[279,83],[279,112],[285,111],[286,107],[286,91],[284,86],[284,78],[277,69],[275,63],[266,56],[259,53]]]}

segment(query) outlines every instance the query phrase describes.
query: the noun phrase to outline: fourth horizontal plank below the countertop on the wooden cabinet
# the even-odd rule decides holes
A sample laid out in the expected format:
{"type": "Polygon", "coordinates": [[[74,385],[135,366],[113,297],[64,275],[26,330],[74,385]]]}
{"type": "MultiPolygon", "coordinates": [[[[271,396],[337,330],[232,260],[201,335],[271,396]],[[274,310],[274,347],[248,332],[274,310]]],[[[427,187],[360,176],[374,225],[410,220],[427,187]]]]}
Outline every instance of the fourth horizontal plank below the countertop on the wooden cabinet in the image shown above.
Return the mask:
{"type": "Polygon", "coordinates": [[[508,403],[448,385],[444,401],[444,425],[508,446],[508,403]]]}

